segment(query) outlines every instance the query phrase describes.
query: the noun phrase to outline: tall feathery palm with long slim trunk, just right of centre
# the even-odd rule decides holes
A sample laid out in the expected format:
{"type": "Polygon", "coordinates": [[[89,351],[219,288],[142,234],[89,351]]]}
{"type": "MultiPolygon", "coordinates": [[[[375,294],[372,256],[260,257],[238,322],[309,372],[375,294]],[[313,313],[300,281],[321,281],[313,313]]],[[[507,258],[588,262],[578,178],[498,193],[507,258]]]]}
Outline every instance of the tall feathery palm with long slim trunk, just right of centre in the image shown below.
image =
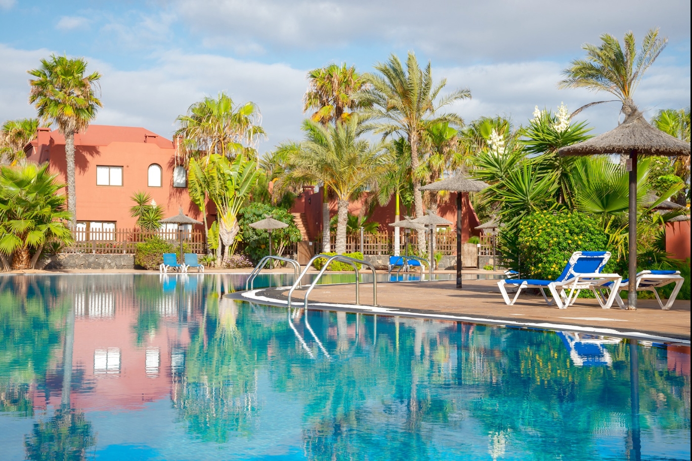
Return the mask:
{"type": "MultiPolygon", "coordinates": [[[[403,68],[397,55],[392,54],[385,63],[374,66],[378,73],[366,73],[363,78],[370,86],[358,91],[355,98],[363,104],[363,116],[371,119],[363,125],[363,130],[372,130],[383,137],[392,134],[406,137],[411,146],[411,168],[419,167],[419,155],[423,132],[430,123],[447,122],[462,126],[464,120],[456,114],[437,116],[436,112],[446,105],[471,98],[468,89],[457,89],[446,96],[440,91],[447,84],[442,79],[435,84],[432,81],[430,62],[421,69],[414,53],[408,53],[406,69],[403,68]]],[[[413,199],[416,216],[423,216],[423,196],[420,191],[421,180],[413,178],[413,199]]],[[[419,231],[419,248],[424,251],[425,233],[419,231]]]]}

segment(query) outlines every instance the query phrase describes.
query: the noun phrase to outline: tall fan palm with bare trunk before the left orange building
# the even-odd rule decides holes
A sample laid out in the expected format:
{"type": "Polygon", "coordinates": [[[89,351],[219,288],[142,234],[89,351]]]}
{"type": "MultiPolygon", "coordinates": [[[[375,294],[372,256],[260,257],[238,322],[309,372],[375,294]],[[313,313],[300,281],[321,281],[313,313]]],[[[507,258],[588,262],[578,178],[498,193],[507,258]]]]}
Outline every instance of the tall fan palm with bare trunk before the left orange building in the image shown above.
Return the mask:
{"type": "Polygon", "coordinates": [[[88,63],[82,58],[51,55],[41,60],[39,69],[28,71],[29,102],[35,104],[42,120],[51,120],[65,136],[67,163],[67,210],[72,213],[71,227],[77,226],[77,190],[75,186],[75,133],[84,131],[96,117],[98,107],[95,87],[101,74],[84,75],[88,63]]]}

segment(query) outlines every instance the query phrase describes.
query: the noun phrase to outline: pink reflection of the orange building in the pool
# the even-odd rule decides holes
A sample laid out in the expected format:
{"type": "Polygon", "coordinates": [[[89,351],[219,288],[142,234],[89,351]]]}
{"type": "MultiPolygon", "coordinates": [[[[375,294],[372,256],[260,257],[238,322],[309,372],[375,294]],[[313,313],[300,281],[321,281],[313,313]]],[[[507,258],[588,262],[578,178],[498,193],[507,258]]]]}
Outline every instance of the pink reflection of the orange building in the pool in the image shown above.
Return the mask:
{"type": "MultiPolygon", "coordinates": [[[[201,316],[204,302],[201,278],[173,279],[165,291],[149,275],[123,276],[115,284],[91,278],[73,287],[79,291],[71,295],[72,365],[80,373],[71,392],[75,408],[132,408],[170,397],[174,377],[185,371],[190,316],[201,316]]],[[[35,406],[43,404],[35,394],[35,406]]],[[[59,405],[59,393],[45,404],[59,405]]]]}

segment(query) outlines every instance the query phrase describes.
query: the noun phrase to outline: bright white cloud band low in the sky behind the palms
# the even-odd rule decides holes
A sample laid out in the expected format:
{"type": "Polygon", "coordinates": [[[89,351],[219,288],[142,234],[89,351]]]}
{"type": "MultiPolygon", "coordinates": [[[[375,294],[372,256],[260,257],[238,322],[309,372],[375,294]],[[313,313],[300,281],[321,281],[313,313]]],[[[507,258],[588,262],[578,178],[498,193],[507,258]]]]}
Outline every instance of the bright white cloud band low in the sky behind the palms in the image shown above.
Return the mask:
{"type": "MultiPolygon", "coordinates": [[[[27,69],[51,51],[17,50],[0,44],[0,122],[8,118],[34,116],[28,105],[27,69]]],[[[167,51],[152,56],[148,69],[123,71],[107,62],[89,60],[89,69],[103,74],[101,88],[104,107],[95,123],[131,125],[151,129],[170,137],[176,116],[204,96],[227,91],[235,102],[253,101],[262,111],[262,125],[268,142],[260,152],[287,138],[298,139],[302,114],[302,95],[307,88],[306,71],[287,64],[263,64],[211,54],[187,54],[167,51]]],[[[469,87],[473,98],[450,107],[467,121],[479,116],[511,116],[516,125],[526,123],[534,106],[556,109],[561,102],[574,110],[594,100],[611,99],[610,95],[584,90],[559,90],[564,63],[529,61],[518,63],[476,64],[472,66],[435,67],[434,78],[448,79],[448,91],[469,87]]],[[[665,107],[687,107],[690,104],[690,67],[674,66],[666,60],[649,69],[635,93],[635,102],[653,116],[665,107]]],[[[594,132],[604,132],[617,125],[619,104],[610,103],[583,111],[579,118],[588,119],[594,132]]]]}

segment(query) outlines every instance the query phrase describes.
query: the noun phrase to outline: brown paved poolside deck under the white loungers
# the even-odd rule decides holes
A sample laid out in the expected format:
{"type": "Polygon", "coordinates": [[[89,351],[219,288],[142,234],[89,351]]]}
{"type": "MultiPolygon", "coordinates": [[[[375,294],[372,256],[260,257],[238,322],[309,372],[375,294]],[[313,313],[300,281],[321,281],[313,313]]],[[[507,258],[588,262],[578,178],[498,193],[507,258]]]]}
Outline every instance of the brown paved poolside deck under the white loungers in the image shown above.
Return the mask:
{"type": "MultiPolygon", "coordinates": [[[[288,292],[272,295],[285,300],[288,292]]],[[[262,292],[257,293],[262,296],[262,292]]],[[[296,290],[293,302],[302,305],[304,291],[296,290]]],[[[377,284],[377,300],[382,307],[430,314],[460,314],[498,320],[561,323],[583,327],[612,328],[619,332],[644,332],[658,336],[690,339],[690,302],[677,300],[669,311],[656,300],[639,300],[636,311],[601,309],[594,299],[580,298],[567,309],[548,307],[542,296],[522,293],[513,306],[504,304],[497,282],[464,280],[464,289],[454,281],[397,282],[377,284]]],[[[311,302],[355,304],[353,284],[318,285],[310,293],[311,302]]],[[[372,284],[361,284],[361,305],[372,303],[372,284]]]]}

